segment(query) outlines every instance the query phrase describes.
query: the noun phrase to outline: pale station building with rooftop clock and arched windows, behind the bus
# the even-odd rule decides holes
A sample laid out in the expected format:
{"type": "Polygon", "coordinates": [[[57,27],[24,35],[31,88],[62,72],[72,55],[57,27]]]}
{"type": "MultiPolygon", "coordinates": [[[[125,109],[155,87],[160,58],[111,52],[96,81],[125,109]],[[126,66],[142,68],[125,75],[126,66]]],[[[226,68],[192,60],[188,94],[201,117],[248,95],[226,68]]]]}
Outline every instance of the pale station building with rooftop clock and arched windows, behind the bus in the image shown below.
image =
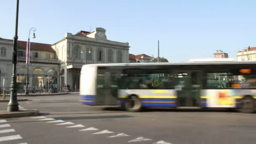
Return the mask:
{"type": "MultiPolygon", "coordinates": [[[[26,85],[27,42],[18,41],[17,84],[26,85]]],[[[0,38],[0,87],[9,87],[12,72],[13,40],[0,38]]],[[[66,33],[54,44],[31,43],[28,69],[29,87],[48,87],[56,84],[58,88],[66,85],[79,88],[80,70],[84,64],[127,63],[129,43],[107,40],[106,30],[96,28],[93,32],[80,31],[66,33]],[[60,73],[62,75],[60,75],[60,73]]]]}

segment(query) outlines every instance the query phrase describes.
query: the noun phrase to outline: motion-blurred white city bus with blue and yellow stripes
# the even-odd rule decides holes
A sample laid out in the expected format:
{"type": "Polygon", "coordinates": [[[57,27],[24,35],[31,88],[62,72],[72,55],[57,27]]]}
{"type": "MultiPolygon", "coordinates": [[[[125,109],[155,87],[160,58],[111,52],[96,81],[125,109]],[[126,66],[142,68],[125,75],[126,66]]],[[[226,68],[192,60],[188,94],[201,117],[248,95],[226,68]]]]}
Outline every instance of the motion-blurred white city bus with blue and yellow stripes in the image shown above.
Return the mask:
{"type": "Polygon", "coordinates": [[[256,61],[86,64],[80,101],[90,106],[256,110],[256,61]]]}

